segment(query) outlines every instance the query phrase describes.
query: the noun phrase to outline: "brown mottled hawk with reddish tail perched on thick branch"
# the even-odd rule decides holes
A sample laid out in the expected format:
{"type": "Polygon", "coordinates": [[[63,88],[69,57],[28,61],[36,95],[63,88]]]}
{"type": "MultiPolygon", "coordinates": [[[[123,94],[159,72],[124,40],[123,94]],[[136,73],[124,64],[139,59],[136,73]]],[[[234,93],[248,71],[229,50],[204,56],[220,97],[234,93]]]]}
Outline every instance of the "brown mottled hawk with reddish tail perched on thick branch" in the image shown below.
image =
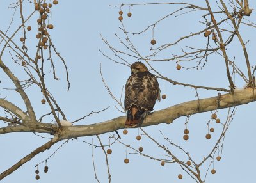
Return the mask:
{"type": "Polygon", "coordinates": [[[127,111],[125,125],[134,126],[143,122],[158,99],[160,89],[156,77],[140,61],[131,65],[131,76],[125,85],[124,107],[127,111]]]}

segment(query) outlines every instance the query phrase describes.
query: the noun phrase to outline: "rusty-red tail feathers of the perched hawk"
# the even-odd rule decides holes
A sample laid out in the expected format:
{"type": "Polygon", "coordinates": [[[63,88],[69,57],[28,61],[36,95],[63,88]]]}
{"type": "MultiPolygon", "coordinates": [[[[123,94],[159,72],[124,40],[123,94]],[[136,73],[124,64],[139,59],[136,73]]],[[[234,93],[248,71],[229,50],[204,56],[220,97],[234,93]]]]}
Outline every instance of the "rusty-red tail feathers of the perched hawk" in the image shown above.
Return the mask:
{"type": "Polygon", "coordinates": [[[125,125],[131,126],[131,127],[134,125],[138,125],[141,122],[143,122],[145,117],[146,117],[145,110],[133,105],[127,111],[127,118],[125,121],[125,125]]]}

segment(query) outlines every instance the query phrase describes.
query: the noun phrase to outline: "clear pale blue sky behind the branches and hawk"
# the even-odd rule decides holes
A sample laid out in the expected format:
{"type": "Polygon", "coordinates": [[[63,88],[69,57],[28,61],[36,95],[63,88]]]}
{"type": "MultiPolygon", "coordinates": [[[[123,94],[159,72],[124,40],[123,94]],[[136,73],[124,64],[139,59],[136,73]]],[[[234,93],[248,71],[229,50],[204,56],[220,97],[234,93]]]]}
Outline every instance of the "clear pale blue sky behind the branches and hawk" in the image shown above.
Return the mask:
{"type": "MultiPolygon", "coordinates": [[[[129,3],[145,3],[146,1],[127,1],[129,3]]],[[[124,113],[120,113],[116,110],[115,106],[118,106],[116,102],[108,95],[108,92],[104,88],[102,79],[100,77],[100,63],[102,65],[102,74],[104,81],[108,84],[111,92],[117,99],[120,98],[122,92],[122,86],[125,84],[126,79],[131,74],[129,67],[125,65],[116,64],[108,58],[102,56],[99,49],[108,55],[110,58],[115,57],[113,52],[108,49],[108,46],[104,44],[100,37],[100,33],[104,36],[104,39],[108,40],[109,44],[120,51],[127,51],[124,45],[120,44],[120,41],[115,36],[115,33],[123,40],[125,35],[119,27],[122,26],[118,20],[118,11],[120,8],[109,7],[109,5],[120,5],[127,3],[125,1],[59,1],[58,5],[52,7],[52,24],[54,29],[49,31],[52,42],[56,46],[58,52],[65,59],[68,66],[68,74],[70,77],[71,88],[67,92],[67,83],[65,82],[65,72],[61,61],[54,57],[56,63],[56,74],[60,78],[60,81],[53,81],[52,70],[50,63],[46,63],[46,84],[48,90],[50,90],[61,109],[65,112],[67,119],[74,121],[81,116],[87,115],[91,111],[100,111],[108,106],[110,108],[99,114],[94,114],[76,125],[86,125],[90,123],[104,122],[118,116],[123,116],[124,113]]],[[[147,1],[152,3],[154,1],[147,1]]],[[[177,1],[178,2],[178,1],[177,1]]],[[[191,3],[191,1],[188,1],[191,3]]],[[[8,8],[9,4],[13,1],[0,0],[0,30],[6,31],[12,19],[14,12],[13,8],[8,8]]],[[[250,1],[251,8],[256,7],[255,1],[250,1]]],[[[200,1],[198,6],[207,7],[204,1],[200,1]]],[[[216,6],[216,2],[212,2],[212,6],[216,6]]],[[[150,5],[150,6],[132,6],[131,17],[127,17],[129,12],[129,6],[124,6],[122,11],[124,12],[124,25],[127,31],[138,32],[147,28],[150,24],[153,24],[157,20],[164,17],[168,13],[174,12],[179,9],[177,5],[150,5]]],[[[28,1],[24,1],[24,18],[33,12],[33,4],[29,4],[28,1]]],[[[212,8],[218,10],[218,8],[212,8]]],[[[183,11],[184,12],[184,11],[183,11]]],[[[183,13],[180,12],[180,13],[183,13]]],[[[186,10],[185,10],[186,12],[186,10]]],[[[180,13],[176,14],[179,15],[180,13]]],[[[204,22],[202,15],[207,12],[189,12],[185,15],[179,15],[177,17],[170,16],[168,19],[163,20],[157,24],[154,29],[154,38],[157,40],[156,47],[162,44],[172,43],[182,36],[189,35],[189,33],[195,33],[205,28],[205,25],[200,23],[204,22]]],[[[221,20],[221,17],[217,17],[221,20]]],[[[27,32],[27,46],[28,53],[35,57],[36,52],[36,19],[38,15],[31,17],[29,24],[32,30],[27,32]]],[[[255,20],[255,12],[251,17],[246,19],[255,20]]],[[[13,17],[12,25],[7,35],[10,36],[20,26],[20,12],[17,9],[15,16],[13,17]]],[[[230,26],[225,28],[231,29],[230,26]]],[[[250,42],[246,44],[250,62],[255,65],[255,28],[241,25],[241,35],[244,42],[250,39],[250,42]]],[[[19,41],[22,36],[19,31],[13,40],[21,47],[22,44],[19,41]]],[[[152,39],[152,28],[140,35],[129,35],[131,41],[134,43],[136,49],[143,55],[150,54],[150,40],[152,39]]],[[[227,37],[226,34],[224,36],[227,37]]],[[[175,45],[171,49],[163,51],[157,58],[170,57],[172,54],[180,54],[181,48],[185,46],[205,48],[207,39],[204,36],[198,35],[191,40],[185,40],[180,44],[175,45]]],[[[210,45],[214,46],[214,42],[210,40],[210,45]]],[[[0,45],[2,49],[3,43],[0,45]]],[[[10,49],[6,49],[3,55],[3,62],[10,67],[11,70],[19,77],[19,79],[27,79],[22,68],[17,67],[17,64],[13,63],[10,54],[10,49]]],[[[189,51],[189,49],[186,49],[189,51]]],[[[243,49],[237,38],[234,38],[234,44],[230,45],[227,50],[230,60],[236,58],[236,64],[246,74],[246,65],[243,58],[243,49]]],[[[12,53],[13,54],[13,53],[12,53]]],[[[15,54],[13,54],[15,55],[15,54]]],[[[134,58],[124,56],[125,60],[129,63],[138,61],[134,58]]],[[[158,72],[161,72],[166,77],[179,81],[182,83],[212,86],[218,88],[228,88],[228,80],[225,72],[225,62],[218,54],[209,56],[209,59],[202,70],[176,70],[175,61],[168,62],[154,62],[153,67],[158,72]]],[[[180,65],[184,67],[193,67],[195,62],[181,62],[180,65]]],[[[0,72],[0,87],[12,88],[13,84],[6,79],[3,72],[0,72]]],[[[158,80],[162,94],[165,92],[167,98],[161,100],[160,103],[156,103],[154,109],[160,110],[166,107],[173,106],[189,100],[195,100],[196,93],[194,89],[184,86],[173,86],[168,82],[165,82],[165,88],[163,80],[158,80]],[[165,90],[165,91],[164,91],[165,90]]],[[[236,75],[235,84],[238,88],[244,86],[244,81],[236,75]]],[[[44,113],[49,113],[50,109],[47,104],[41,104],[42,93],[35,86],[26,90],[31,99],[33,107],[35,107],[36,117],[39,118],[44,113]]],[[[218,92],[212,90],[198,90],[200,99],[204,97],[214,97],[218,95],[218,92]]],[[[0,89],[0,97],[6,97],[7,100],[17,104],[21,109],[25,110],[24,104],[20,96],[13,92],[13,90],[0,89]]],[[[124,93],[122,95],[122,102],[124,100],[124,93]]],[[[124,103],[124,102],[123,102],[124,103]]],[[[216,174],[212,175],[208,173],[206,182],[253,182],[255,179],[255,129],[256,123],[253,114],[255,113],[256,104],[250,103],[244,106],[238,106],[234,120],[232,121],[230,128],[225,136],[225,143],[223,147],[223,154],[221,161],[214,161],[214,169],[216,174]]],[[[221,120],[227,118],[227,109],[218,110],[221,120]]],[[[3,111],[1,111],[3,115],[3,111]]],[[[196,162],[202,161],[202,159],[209,154],[212,147],[216,143],[216,139],[221,134],[221,125],[214,123],[215,131],[212,134],[210,140],[205,139],[207,134],[207,122],[211,118],[211,112],[201,113],[198,115],[192,115],[189,119],[189,140],[184,141],[182,139],[183,131],[185,128],[186,117],[181,117],[175,120],[172,124],[161,124],[152,127],[144,127],[143,129],[155,138],[161,145],[169,147],[172,152],[180,157],[183,161],[186,161],[184,154],[180,153],[177,149],[170,147],[170,145],[164,141],[163,137],[159,133],[161,130],[166,137],[171,139],[174,143],[177,143],[189,152],[191,157],[196,162]]],[[[44,122],[51,122],[54,118],[45,118],[44,122]]],[[[1,122],[0,127],[4,127],[6,124],[1,122]]],[[[127,136],[122,134],[122,130],[119,131],[122,134],[122,143],[131,145],[138,149],[140,142],[136,141],[136,135],[138,129],[129,129],[127,136]]],[[[141,131],[139,132],[141,133],[141,131]]],[[[111,133],[111,134],[115,134],[111,133]]],[[[40,134],[41,136],[47,136],[40,134]]],[[[100,136],[104,144],[109,143],[109,134],[100,136]]],[[[92,139],[95,144],[99,145],[99,141],[95,136],[89,136],[84,138],[78,138],[77,140],[70,140],[65,144],[54,156],[47,161],[49,166],[49,172],[44,173],[44,163],[38,168],[40,171],[40,180],[35,179],[35,164],[44,161],[51,155],[60,145],[64,142],[57,143],[50,150],[46,150],[44,153],[38,154],[28,163],[24,164],[19,170],[5,177],[2,182],[97,182],[93,171],[92,164],[92,147],[83,141],[92,143],[92,139]]],[[[10,168],[13,164],[17,163],[22,157],[29,154],[35,148],[44,144],[47,139],[42,139],[36,134],[28,132],[16,133],[16,134],[4,134],[0,138],[0,171],[10,168]]],[[[111,139],[111,141],[113,141],[111,139]]],[[[157,148],[157,145],[150,139],[143,136],[142,146],[144,153],[157,159],[162,159],[166,153],[157,148]]],[[[108,155],[109,168],[111,172],[112,182],[194,182],[189,175],[181,171],[183,179],[179,180],[180,168],[178,164],[165,164],[161,166],[159,161],[143,157],[142,155],[132,154],[134,151],[128,148],[127,157],[129,158],[129,164],[124,163],[125,147],[120,143],[115,143],[111,146],[113,153],[108,155]]],[[[97,171],[97,177],[100,182],[108,182],[108,174],[105,163],[105,156],[100,147],[94,149],[95,168],[97,171]]],[[[210,161],[205,163],[202,167],[202,174],[205,174],[205,170],[210,161]]],[[[212,166],[210,170],[212,169],[212,166]]],[[[204,177],[204,176],[202,176],[204,177]]]]}

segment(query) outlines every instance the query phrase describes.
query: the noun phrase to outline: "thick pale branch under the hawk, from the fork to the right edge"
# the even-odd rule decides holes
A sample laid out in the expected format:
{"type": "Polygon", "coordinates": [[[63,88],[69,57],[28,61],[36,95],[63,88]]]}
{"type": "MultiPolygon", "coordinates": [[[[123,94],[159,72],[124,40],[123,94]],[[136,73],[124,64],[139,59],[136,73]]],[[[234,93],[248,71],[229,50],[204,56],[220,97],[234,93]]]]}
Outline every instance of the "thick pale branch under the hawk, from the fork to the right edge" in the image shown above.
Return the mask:
{"type": "MultiPolygon", "coordinates": [[[[188,116],[196,113],[203,113],[212,111],[214,109],[223,109],[233,106],[239,106],[242,104],[248,104],[256,100],[256,93],[252,88],[246,88],[243,90],[235,90],[234,95],[225,94],[221,96],[193,100],[177,104],[172,107],[168,107],[161,111],[156,111],[152,115],[148,116],[142,127],[150,125],[158,125],[160,123],[172,123],[173,120],[181,117],[188,116]],[[218,102],[219,101],[219,102],[218,102]]],[[[104,134],[106,132],[116,131],[118,129],[125,128],[126,116],[120,116],[113,120],[106,122],[96,123],[92,125],[79,125],[72,127],[63,127],[63,130],[59,132],[61,139],[76,138],[79,136],[92,136],[95,134],[104,134]]]]}

